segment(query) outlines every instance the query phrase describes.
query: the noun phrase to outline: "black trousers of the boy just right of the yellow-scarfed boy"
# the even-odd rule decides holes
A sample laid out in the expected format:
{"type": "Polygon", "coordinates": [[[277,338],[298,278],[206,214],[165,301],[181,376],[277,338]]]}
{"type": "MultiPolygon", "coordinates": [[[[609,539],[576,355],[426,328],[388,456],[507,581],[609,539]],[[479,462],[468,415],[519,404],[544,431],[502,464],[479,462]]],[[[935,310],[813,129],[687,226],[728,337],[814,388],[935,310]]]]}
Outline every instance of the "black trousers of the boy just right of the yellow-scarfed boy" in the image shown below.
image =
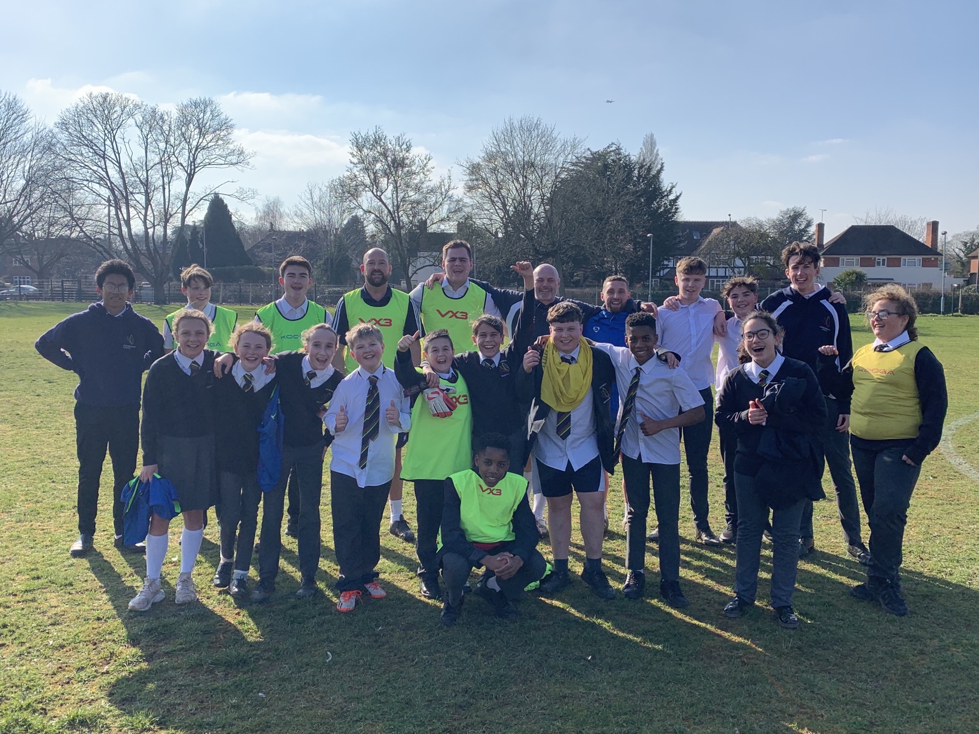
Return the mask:
{"type": "Polygon", "coordinates": [[[653,481],[656,522],[660,526],[660,577],[679,580],[679,464],[652,464],[622,455],[629,509],[626,515],[626,568],[641,571],[646,564],[646,519],[649,516],[649,480],[653,481]]]}

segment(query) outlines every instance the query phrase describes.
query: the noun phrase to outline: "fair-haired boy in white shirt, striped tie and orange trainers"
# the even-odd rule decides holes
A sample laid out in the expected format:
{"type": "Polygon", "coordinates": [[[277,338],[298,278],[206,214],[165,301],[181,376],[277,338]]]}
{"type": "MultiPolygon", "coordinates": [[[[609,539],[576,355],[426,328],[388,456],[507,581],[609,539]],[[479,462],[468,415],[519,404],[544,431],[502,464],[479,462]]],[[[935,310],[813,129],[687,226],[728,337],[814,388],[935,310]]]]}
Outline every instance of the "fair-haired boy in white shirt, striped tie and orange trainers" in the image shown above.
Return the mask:
{"type": "Polygon", "coordinates": [[[375,571],[381,560],[381,521],[395,477],[397,435],[411,428],[408,401],[394,371],[381,363],[381,330],[359,324],[346,339],[359,366],[337,387],[323,416],[334,436],[330,506],[340,565],[338,612],[352,612],[364,591],[371,599],[387,596],[375,571]]]}

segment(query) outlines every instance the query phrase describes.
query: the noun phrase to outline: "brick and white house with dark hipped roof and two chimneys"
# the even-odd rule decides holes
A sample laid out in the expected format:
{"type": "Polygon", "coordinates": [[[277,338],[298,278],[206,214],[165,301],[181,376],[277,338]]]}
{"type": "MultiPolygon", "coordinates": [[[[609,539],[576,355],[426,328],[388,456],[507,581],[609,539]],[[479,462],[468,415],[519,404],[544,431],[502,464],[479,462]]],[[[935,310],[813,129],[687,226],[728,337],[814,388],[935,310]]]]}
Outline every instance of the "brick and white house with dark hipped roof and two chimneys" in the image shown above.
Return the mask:
{"type": "MultiPolygon", "coordinates": [[[[867,283],[897,283],[909,291],[941,291],[942,251],[938,222],[925,225],[922,243],[891,224],[853,224],[822,245],[822,226],[816,225],[816,246],[822,253],[822,280],[830,283],[844,270],[859,269],[867,283]]],[[[948,275],[945,288],[961,279],[948,275]]]]}

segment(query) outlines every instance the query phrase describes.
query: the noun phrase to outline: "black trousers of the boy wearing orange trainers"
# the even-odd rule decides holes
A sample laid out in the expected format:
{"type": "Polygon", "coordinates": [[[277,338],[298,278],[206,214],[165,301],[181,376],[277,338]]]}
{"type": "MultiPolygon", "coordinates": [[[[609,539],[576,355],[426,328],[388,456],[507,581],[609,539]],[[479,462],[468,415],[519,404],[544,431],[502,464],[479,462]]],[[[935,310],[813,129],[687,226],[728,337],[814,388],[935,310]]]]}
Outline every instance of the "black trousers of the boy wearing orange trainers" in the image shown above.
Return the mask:
{"type": "Polygon", "coordinates": [[[346,474],[330,472],[333,547],[340,576],[337,591],[353,591],[377,578],[381,560],[381,521],[391,482],[359,487],[346,474]]]}

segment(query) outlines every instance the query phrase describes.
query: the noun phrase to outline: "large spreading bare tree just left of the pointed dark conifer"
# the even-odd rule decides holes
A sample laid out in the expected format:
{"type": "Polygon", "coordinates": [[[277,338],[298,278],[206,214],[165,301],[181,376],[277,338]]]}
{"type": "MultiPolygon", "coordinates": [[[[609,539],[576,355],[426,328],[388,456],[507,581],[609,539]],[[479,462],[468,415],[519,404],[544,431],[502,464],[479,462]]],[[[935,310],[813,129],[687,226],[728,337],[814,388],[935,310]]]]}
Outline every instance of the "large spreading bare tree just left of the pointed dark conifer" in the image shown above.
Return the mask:
{"type": "MultiPolygon", "coordinates": [[[[234,123],[210,98],[168,111],[121,94],[90,93],[62,112],[55,128],[64,175],[92,200],[108,203],[113,236],[163,302],[171,239],[202,202],[233,183],[195,190],[199,177],[249,166],[252,154],[234,142],[234,123]]],[[[78,225],[96,239],[90,221],[78,225]]]]}

